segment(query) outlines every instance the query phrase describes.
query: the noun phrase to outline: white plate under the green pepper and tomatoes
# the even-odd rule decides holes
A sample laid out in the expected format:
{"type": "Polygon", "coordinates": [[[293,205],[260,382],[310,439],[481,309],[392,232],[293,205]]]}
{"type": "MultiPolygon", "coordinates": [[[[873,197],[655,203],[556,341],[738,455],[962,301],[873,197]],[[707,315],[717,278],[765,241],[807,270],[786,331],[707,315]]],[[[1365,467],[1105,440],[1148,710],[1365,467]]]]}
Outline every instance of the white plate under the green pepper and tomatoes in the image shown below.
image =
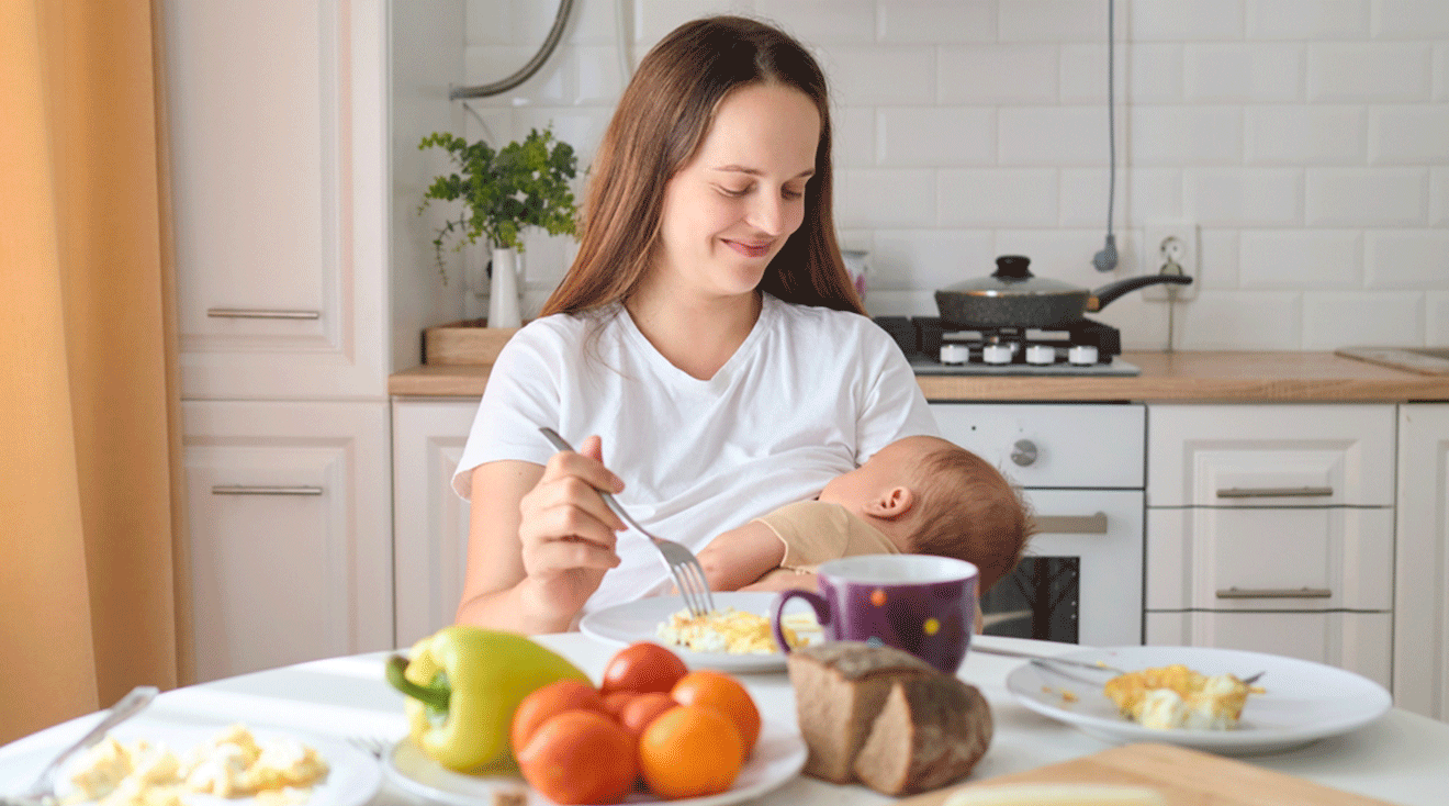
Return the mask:
{"type": "MultiPolygon", "coordinates": [[[[729,792],[707,797],[662,800],[648,793],[633,793],[625,803],[669,803],[669,806],[724,806],[753,800],[800,773],[806,764],[806,742],[794,726],[764,722],[755,752],[735,778],[729,792]]],[[[446,806],[491,806],[497,792],[517,792],[527,806],[551,806],[554,802],[529,789],[517,776],[465,776],[439,765],[412,742],[403,739],[383,754],[383,771],[388,780],[413,794],[446,806]]]]}

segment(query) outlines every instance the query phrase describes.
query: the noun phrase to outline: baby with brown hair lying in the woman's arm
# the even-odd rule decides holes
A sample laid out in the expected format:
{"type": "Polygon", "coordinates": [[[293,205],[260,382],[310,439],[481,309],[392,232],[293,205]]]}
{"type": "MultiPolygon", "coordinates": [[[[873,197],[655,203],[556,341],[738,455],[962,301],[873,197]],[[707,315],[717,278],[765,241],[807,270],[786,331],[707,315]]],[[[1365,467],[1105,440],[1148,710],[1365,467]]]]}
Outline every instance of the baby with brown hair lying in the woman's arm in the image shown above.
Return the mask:
{"type": "Polygon", "coordinates": [[[978,593],[1010,574],[1032,533],[1011,484],[985,460],[935,436],[891,442],[832,478],[811,502],[730,529],[698,552],[711,590],[813,587],[826,560],[936,554],[974,562],[978,593]]]}

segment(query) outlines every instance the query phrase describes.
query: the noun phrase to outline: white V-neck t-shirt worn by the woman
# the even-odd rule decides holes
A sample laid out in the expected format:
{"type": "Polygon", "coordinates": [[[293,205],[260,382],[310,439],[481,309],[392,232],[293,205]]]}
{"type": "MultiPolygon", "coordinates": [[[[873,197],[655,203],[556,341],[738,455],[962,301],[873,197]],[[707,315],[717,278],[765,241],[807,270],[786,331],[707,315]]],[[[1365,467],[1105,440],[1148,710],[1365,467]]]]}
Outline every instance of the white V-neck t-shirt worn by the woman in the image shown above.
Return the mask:
{"type": "MultiPolygon", "coordinates": [[[[529,323],[493,365],[454,490],[468,497],[472,468],[484,462],[546,464],[555,451],[543,425],[574,445],[600,435],[604,465],[625,481],[619,503],[645,529],[696,551],[816,497],[895,439],[938,433],[885,331],[856,313],[769,294],[710,380],[664,358],[619,304],[529,323]]],[[[585,613],[668,587],[643,536],[620,532],[616,551],[622,562],[585,613]]]]}

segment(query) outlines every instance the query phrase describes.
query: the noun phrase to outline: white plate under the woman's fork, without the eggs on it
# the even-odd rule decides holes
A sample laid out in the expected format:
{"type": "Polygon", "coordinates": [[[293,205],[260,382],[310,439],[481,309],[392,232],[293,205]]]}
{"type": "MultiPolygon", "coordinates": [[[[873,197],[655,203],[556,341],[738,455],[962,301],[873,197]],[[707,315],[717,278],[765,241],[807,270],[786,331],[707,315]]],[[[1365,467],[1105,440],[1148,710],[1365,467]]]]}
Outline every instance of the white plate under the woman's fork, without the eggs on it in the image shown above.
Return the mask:
{"type": "MultiPolygon", "coordinates": [[[[716,591],[711,596],[714,606],[719,609],[733,607],[745,613],[759,613],[768,619],[777,594],[716,591]]],[[[655,635],[659,622],[667,620],[672,613],[682,609],[684,600],[678,596],[649,596],[614,604],[613,607],[604,607],[603,610],[594,610],[578,622],[578,629],[596,641],[617,647],[633,644],[635,641],[664,644],[655,635]]],[[[813,610],[804,602],[791,602],[788,609],[791,613],[796,613],[797,609],[798,612],[811,613],[813,618],[813,610]]],[[[806,632],[806,635],[810,636],[811,644],[820,641],[819,629],[806,632]]],[[[690,668],[714,668],[719,671],[784,671],[785,668],[785,657],[780,652],[768,655],[730,655],[726,652],[691,652],[684,647],[669,644],[665,644],[665,647],[669,647],[669,649],[674,649],[674,654],[684,658],[684,664],[690,668]]]]}

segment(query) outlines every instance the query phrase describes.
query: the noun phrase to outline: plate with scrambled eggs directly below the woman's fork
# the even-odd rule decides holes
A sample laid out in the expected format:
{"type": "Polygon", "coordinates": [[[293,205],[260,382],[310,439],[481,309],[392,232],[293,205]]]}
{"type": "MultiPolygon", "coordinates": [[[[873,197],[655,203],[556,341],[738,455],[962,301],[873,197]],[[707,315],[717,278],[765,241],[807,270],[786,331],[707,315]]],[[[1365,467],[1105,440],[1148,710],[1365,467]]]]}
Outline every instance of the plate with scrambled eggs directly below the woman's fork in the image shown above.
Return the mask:
{"type": "MultiPolygon", "coordinates": [[[[604,607],[584,616],[578,629],[604,644],[653,641],[674,649],[690,668],[720,671],[782,671],[785,657],[775,647],[769,613],[774,593],[717,591],[714,613],[690,616],[678,596],[651,596],[604,607]]],[[[807,604],[793,603],[784,619],[796,645],[822,641],[820,625],[807,604]]]]}

